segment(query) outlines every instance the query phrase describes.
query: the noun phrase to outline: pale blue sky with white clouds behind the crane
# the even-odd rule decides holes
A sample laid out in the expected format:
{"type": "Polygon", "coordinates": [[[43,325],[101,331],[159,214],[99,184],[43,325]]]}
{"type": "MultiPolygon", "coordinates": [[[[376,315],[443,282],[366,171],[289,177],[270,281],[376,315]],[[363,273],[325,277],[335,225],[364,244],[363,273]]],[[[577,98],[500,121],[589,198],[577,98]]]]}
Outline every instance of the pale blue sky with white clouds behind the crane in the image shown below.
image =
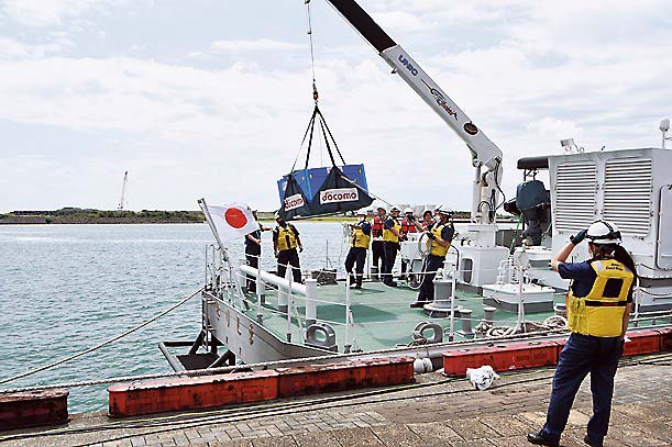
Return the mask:
{"type": "MultiPolygon", "coordinates": [[[[504,152],[660,146],[669,1],[361,0],[504,152]]],[[[471,203],[469,150],[324,0],[320,107],[390,202],[471,203]]],[[[0,212],[278,206],[312,110],[302,0],[0,0],[0,212]]],[[[319,166],[318,153],[315,166],[319,166]]]]}

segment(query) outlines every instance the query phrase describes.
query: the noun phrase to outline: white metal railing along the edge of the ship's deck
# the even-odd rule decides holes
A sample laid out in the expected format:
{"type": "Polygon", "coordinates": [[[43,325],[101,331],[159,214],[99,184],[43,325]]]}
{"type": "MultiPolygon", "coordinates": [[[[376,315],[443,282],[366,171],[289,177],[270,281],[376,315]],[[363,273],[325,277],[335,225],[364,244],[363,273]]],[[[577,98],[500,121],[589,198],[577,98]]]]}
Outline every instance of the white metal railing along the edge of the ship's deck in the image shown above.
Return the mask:
{"type": "MultiPolygon", "coordinates": [[[[348,287],[348,281],[345,281],[344,287],[344,300],[343,301],[334,301],[334,300],[324,300],[318,297],[319,284],[316,279],[306,279],[305,283],[299,283],[294,281],[294,277],[291,275],[293,266],[287,267],[287,276],[286,278],[280,278],[273,272],[267,272],[264,270],[258,270],[245,264],[244,260],[241,260],[240,265],[234,269],[231,267],[225,267],[227,262],[217,261],[218,256],[217,249],[213,248],[209,252],[211,254],[211,262],[206,268],[206,278],[209,287],[216,291],[216,295],[220,299],[228,301],[234,308],[241,310],[242,312],[249,312],[253,306],[256,306],[256,320],[257,323],[263,324],[263,319],[265,313],[275,314],[277,316],[286,319],[286,331],[285,338],[287,342],[293,340],[293,334],[298,333],[297,340],[301,344],[306,343],[306,332],[313,324],[328,324],[331,326],[342,327],[344,331],[344,344],[343,350],[345,353],[351,349],[357,349],[356,343],[356,332],[359,329],[363,329],[365,327],[374,326],[374,325],[395,325],[395,324],[411,324],[418,323],[418,319],[408,320],[408,321],[374,321],[374,322],[360,322],[355,321],[356,315],[353,313],[353,306],[366,304],[365,302],[359,302],[353,300],[353,294],[348,287]],[[256,299],[252,300],[242,292],[242,288],[240,284],[245,284],[247,278],[252,278],[256,286],[256,299]],[[222,278],[224,278],[222,280],[222,278]],[[277,293],[277,306],[273,309],[269,305],[264,305],[266,301],[266,295],[268,290],[274,290],[277,293]],[[343,308],[343,319],[340,321],[335,320],[323,320],[317,317],[317,310],[319,305],[334,305],[343,308]],[[302,312],[300,312],[300,308],[302,308],[302,312]]],[[[483,316],[483,319],[477,322],[476,326],[473,327],[474,319],[471,316],[471,310],[464,308],[462,304],[455,305],[456,295],[456,272],[459,269],[454,264],[447,262],[444,268],[440,268],[437,271],[416,271],[417,275],[436,275],[439,281],[447,281],[450,283],[450,297],[447,299],[437,299],[434,304],[439,306],[443,305],[443,308],[448,311],[442,315],[431,315],[431,321],[447,321],[448,327],[443,329],[444,334],[448,336],[448,340],[452,342],[456,336],[464,338],[480,337],[480,336],[488,336],[489,335],[502,335],[502,334],[516,334],[519,332],[530,332],[530,331],[544,331],[544,329],[560,329],[564,326],[565,321],[560,317],[550,317],[544,322],[535,322],[527,321],[525,315],[525,293],[524,286],[530,283],[530,278],[527,272],[527,268],[522,266],[516,266],[514,264],[508,264],[506,268],[513,272],[510,278],[516,281],[518,284],[518,311],[516,315],[516,321],[511,322],[509,320],[498,320],[494,319],[491,314],[488,316],[487,312],[483,316]],[[447,271],[448,270],[448,271],[447,271]],[[524,278],[522,281],[518,280],[519,278],[524,278]],[[551,320],[552,319],[552,320],[551,320]],[[511,325],[513,324],[513,325],[511,325]]],[[[508,276],[507,275],[507,276],[508,276]]],[[[508,279],[508,278],[507,278],[508,279]]],[[[637,293],[639,287],[636,286],[635,295],[635,309],[636,312],[631,319],[631,326],[640,327],[642,325],[656,325],[657,323],[672,323],[672,313],[670,311],[659,311],[659,312],[640,312],[638,305],[638,297],[640,293],[637,293]]],[[[554,292],[554,301],[555,298],[563,297],[565,292],[554,292]]],[[[483,297],[460,297],[460,302],[472,300],[474,303],[481,304],[483,302],[483,297]]],[[[376,301],[376,305],[394,305],[399,304],[399,301],[389,301],[389,302],[381,302],[376,301]]],[[[484,308],[485,309],[485,308],[484,308]]],[[[555,313],[561,313],[562,310],[555,309],[555,313]]],[[[411,340],[410,343],[414,343],[411,340]]]]}

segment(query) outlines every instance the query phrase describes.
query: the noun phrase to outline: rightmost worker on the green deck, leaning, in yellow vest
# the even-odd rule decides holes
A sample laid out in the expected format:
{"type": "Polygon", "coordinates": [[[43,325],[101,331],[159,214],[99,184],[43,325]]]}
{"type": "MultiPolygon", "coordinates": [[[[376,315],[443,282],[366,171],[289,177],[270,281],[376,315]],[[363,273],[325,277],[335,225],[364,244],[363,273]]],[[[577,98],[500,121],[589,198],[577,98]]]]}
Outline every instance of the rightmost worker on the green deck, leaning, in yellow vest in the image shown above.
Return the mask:
{"type": "Polygon", "coordinates": [[[430,226],[430,230],[425,234],[427,235],[427,246],[429,254],[425,258],[422,265],[422,271],[420,275],[422,279],[420,282],[420,292],[416,302],[410,303],[411,308],[423,308],[434,301],[434,277],[437,270],[443,267],[445,255],[450,249],[450,244],[455,235],[455,227],[451,222],[452,210],[449,206],[439,206],[434,211],[438,222],[430,226]]]}

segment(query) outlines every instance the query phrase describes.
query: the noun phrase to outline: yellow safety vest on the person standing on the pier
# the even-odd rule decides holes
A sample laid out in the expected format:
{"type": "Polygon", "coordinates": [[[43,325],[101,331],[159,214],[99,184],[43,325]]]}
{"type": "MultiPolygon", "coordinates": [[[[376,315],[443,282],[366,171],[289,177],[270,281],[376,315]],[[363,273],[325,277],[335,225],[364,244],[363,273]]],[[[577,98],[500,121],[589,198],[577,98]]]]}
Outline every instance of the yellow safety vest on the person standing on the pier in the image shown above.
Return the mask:
{"type": "Polygon", "coordinates": [[[568,326],[583,335],[618,337],[635,275],[615,259],[595,260],[591,267],[597,273],[591,292],[575,297],[570,289],[568,294],[568,326]]]}

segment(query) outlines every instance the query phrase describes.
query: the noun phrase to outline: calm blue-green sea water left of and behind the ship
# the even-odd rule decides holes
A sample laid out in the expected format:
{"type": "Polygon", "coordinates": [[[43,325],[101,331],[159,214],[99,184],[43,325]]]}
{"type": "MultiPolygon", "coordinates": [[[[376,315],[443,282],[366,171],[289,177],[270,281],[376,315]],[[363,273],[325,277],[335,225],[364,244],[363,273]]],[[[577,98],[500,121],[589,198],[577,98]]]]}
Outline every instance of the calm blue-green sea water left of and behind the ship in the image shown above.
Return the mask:
{"type": "MultiPolygon", "coordinates": [[[[340,223],[297,223],[302,268],[341,273],[348,252],[340,223]]],[[[265,268],[275,265],[263,235],[265,268]]],[[[203,283],[205,224],[0,225],[0,378],[79,353],[121,334],[203,283]]],[[[242,241],[230,244],[243,257],[242,241]]],[[[63,366],[0,388],[86,381],[172,371],[163,340],[191,340],[200,331],[197,298],[152,325],[63,366]]],[[[106,387],[70,390],[69,411],[107,409],[106,387]]]]}

